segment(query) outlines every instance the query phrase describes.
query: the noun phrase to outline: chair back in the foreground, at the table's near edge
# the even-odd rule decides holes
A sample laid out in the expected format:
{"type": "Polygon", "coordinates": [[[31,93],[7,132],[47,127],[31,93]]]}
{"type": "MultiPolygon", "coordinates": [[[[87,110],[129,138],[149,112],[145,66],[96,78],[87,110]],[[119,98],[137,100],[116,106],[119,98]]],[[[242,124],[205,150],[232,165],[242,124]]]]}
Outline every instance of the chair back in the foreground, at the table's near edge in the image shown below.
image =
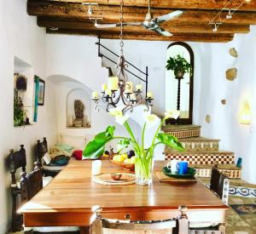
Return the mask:
{"type": "Polygon", "coordinates": [[[188,234],[189,220],[186,215],[187,208],[179,208],[181,215],[177,219],[131,221],[131,220],[109,220],[102,218],[102,208],[94,206],[93,216],[90,219],[90,234],[121,234],[121,233],[150,233],[150,234],[188,234]]]}

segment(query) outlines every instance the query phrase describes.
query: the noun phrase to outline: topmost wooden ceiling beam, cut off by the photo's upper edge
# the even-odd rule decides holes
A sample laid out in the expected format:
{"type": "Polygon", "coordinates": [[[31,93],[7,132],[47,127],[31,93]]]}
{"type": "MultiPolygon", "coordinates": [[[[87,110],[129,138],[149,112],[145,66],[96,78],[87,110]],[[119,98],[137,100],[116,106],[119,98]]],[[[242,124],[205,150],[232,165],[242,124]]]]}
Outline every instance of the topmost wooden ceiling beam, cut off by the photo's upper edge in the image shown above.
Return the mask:
{"type": "MultiPolygon", "coordinates": [[[[32,1],[32,0],[31,0],[32,1]]],[[[37,2],[37,0],[33,0],[37,2]]],[[[84,3],[84,0],[50,0],[57,3],[84,3]]],[[[229,0],[151,0],[152,8],[159,9],[223,9],[229,0]]],[[[230,4],[230,8],[236,9],[244,0],[236,0],[230,4]]],[[[101,5],[119,6],[119,0],[86,0],[86,3],[98,3],[101,5]]],[[[147,7],[148,0],[124,0],[125,6],[130,7],[147,7]]],[[[240,10],[256,11],[256,0],[251,0],[249,3],[244,3],[240,10]]]]}

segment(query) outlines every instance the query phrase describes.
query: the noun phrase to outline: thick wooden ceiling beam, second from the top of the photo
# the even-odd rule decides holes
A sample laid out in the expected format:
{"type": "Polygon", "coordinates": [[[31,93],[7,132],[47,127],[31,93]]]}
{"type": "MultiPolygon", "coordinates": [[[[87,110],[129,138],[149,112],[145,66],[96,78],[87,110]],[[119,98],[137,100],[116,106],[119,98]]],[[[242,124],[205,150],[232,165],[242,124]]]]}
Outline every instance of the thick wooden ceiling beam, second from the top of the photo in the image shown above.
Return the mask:
{"type": "MultiPolygon", "coordinates": [[[[170,1],[173,2],[173,1],[170,1]]],[[[27,13],[36,16],[45,17],[61,17],[65,19],[88,20],[89,17],[103,18],[103,22],[117,22],[119,20],[119,7],[118,6],[93,6],[94,13],[88,14],[88,6],[75,3],[59,3],[43,0],[28,0],[27,13]]],[[[124,20],[127,21],[143,21],[148,9],[125,7],[124,20]]],[[[161,14],[168,14],[173,9],[152,9],[154,17],[161,14]]],[[[177,24],[182,23],[208,23],[214,16],[218,14],[217,11],[207,10],[185,10],[181,17],[172,20],[177,24]]],[[[227,12],[221,14],[224,19],[227,12]]],[[[253,12],[236,12],[232,19],[227,20],[228,24],[236,25],[256,25],[256,13],[253,12]]]]}

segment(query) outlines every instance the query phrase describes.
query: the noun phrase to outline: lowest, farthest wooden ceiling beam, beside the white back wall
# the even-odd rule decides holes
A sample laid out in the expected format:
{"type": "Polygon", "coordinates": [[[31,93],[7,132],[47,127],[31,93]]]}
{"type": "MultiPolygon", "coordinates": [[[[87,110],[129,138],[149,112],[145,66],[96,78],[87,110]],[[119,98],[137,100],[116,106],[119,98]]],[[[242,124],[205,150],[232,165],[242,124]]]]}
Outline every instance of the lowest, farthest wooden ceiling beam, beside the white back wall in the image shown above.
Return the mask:
{"type": "MultiPolygon", "coordinates": [[[[119,39],[118,33],[113,33],[112,31],[96,32],[90,30],[77,30],[77,29],[59,29],[57,31],[51,31],[46,29],[46,32],[49,34],[70,34],[70,35],[86,35],[101,37],[102,39],[119,39]]],[[[233,34],[182,34],[178,33],[172,37],[162,37],[156,34],[147,34],[145,33],[133,33],[125,34],[125,40],[148,40],[148,41],[169,41],[169,42],[202,42],[202,43],[227,43],[233,40],[233,34]]]]}

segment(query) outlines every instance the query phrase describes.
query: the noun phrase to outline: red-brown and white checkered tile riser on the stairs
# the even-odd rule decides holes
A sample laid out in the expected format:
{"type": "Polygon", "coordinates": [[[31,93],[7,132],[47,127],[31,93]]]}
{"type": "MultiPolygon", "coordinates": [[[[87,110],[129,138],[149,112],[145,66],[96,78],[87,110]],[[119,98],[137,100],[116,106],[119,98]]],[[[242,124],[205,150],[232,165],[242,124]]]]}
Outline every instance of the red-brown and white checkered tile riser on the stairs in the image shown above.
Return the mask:
{"type": "Polygon", "coordinates": [[[172,153],[165,156],[166,160],[184,160],[188,161],[190,164],[234,164],[235,156],[232,152],[216,152],[216,153],[195,153],[195,152],[185,152],[185,153],[172,153]]]}

